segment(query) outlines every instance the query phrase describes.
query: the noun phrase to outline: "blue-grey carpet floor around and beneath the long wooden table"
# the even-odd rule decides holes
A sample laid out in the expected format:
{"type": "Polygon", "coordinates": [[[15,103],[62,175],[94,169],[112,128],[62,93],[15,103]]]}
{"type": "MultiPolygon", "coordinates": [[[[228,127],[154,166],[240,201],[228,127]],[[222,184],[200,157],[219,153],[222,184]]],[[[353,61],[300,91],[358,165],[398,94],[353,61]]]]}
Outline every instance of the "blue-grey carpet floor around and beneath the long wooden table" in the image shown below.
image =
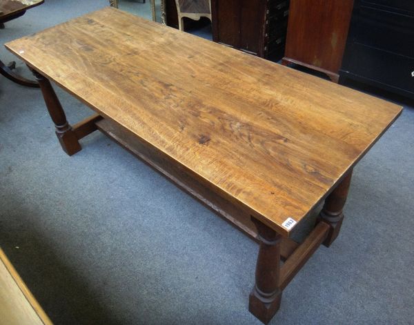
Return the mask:
{"type": "MultiPolygon", "coordinates": [[[[103,6],[47,0],[7,23],[1,43],[103,6]]],[[[70,122],[90,115],[57,94],[70,122]]],[[[1,77],[0,245],[52,321],[261,324],[248,313],[257,244],[101,133],[81,144],[64,154],[40,91],[1,77]]],[[[413,324],[413,161],[406,106],[355,168],[339,238],[270,324],[413,324]]]]}

